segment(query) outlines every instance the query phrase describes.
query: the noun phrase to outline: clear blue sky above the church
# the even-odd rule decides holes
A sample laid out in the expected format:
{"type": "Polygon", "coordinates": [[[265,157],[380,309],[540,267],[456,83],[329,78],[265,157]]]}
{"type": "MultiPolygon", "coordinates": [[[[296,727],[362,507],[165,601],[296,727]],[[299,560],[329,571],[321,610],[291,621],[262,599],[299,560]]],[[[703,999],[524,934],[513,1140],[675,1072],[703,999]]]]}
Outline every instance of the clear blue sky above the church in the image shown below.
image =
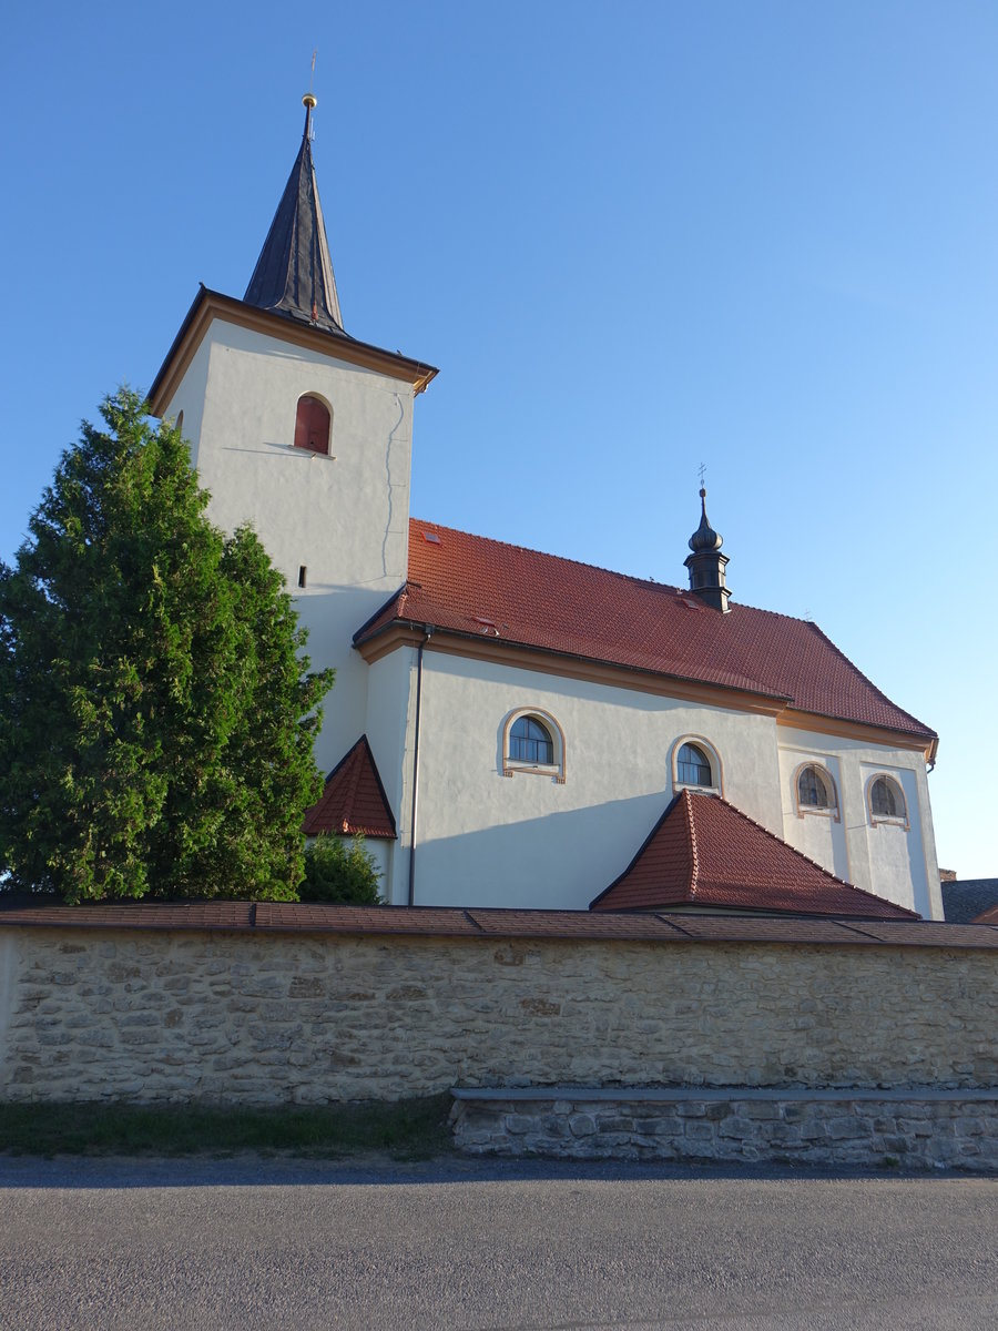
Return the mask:
{"type": "Polygon", "coordinates": [[[347,331],[440,367],[413,511],[736,599],[941,733],[998,874],[998,8],[19,7],[0,52],[0,558],[81,418],[242,295],[314,154],[347,331]],[[973,780],[971,780],[973,777],[973,780]]]}

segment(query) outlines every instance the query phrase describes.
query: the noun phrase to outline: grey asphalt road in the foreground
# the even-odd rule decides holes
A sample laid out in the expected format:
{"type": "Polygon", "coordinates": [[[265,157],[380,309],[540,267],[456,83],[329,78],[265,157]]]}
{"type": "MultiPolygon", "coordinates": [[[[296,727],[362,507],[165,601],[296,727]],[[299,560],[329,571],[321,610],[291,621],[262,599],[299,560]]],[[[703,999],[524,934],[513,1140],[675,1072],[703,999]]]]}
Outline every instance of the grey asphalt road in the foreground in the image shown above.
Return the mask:
{"type": "Polygon", "coordinates": [[[0,1158],[0,1327],[998,1327],[998,1179],[0,1158]]]}

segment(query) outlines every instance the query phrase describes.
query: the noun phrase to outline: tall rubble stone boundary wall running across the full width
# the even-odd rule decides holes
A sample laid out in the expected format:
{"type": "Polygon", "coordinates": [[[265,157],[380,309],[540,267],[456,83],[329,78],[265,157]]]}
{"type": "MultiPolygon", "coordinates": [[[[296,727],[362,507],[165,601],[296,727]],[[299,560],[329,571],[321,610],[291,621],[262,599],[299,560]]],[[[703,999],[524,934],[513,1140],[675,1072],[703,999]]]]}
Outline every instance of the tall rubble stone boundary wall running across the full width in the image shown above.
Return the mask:
{"type": "Polygon", "coordinates": [[[898,926],[949,948],[773,942],[758,934],[784,921],[750,921],[743,941],[679,925],[641,941],[627,930],[652,924],[632,917],[283,908],[282,928],[240,932],[221,906],[157,909],[80,908],[45,925],[0,913],[0,1098],[998,1086],[995,930],[898,926]],[[556,936],[570,928],[593,932],[556,936]]]}

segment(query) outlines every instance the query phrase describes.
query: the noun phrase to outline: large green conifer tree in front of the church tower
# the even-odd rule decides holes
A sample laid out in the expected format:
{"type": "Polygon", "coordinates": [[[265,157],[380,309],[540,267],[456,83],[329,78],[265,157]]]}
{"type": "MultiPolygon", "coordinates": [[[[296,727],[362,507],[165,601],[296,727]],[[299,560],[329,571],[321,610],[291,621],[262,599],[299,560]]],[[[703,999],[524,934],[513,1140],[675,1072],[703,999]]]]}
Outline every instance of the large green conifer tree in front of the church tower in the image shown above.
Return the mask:
{"type": "Polygon", "coordinates": [[[67,901],[294,900],[331,672],[145,411],[104,402],[0,564],[0,870],[67,901]]]}

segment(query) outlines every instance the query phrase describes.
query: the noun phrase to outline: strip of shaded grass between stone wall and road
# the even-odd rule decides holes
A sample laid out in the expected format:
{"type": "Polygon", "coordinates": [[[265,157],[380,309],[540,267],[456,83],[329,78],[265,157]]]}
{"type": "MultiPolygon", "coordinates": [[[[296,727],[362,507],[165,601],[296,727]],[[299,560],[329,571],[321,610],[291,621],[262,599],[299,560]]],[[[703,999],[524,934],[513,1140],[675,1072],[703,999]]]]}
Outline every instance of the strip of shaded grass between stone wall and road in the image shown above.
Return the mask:
{"type": "Polygon", "coordinates": [[[224,1105],[0,1103],[0,1151],[12,1155],[291,1155],[397,1161],[450,1151],[450,1097],[395,1103],[224,1105]]]}

